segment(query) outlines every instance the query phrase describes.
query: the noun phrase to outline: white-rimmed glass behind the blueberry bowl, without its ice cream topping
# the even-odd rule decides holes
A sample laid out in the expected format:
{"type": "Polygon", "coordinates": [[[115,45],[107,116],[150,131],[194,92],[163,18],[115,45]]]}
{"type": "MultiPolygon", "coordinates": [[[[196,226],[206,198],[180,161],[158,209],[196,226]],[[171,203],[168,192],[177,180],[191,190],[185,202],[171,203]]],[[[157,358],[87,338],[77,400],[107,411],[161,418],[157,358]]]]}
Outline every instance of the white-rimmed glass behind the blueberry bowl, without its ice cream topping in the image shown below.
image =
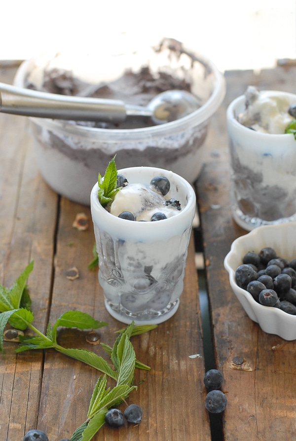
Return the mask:
{"type": "MultiPolygon", "coordinates": [[[[290,104],[296,95],[286,95],[290,104]]],[[[296,220],[296,140],[293,134],[260,133],[243,126],[237,115],[245,96],[227,109],[231,162],[230,203],[233,219],[250,231],[260,225],[296,220]]]]}

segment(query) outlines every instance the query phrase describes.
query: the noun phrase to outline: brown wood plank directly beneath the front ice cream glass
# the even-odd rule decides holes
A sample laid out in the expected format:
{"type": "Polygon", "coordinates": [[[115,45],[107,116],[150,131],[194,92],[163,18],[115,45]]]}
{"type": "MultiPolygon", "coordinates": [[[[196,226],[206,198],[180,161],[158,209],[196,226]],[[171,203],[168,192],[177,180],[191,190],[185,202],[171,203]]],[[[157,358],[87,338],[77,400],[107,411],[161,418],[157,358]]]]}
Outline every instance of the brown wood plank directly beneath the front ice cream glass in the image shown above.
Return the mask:
{"type": "MultiPolygon", "coordinates": [[[[112,345],[114,331],[125,325],[107,313],[97,271],[87,269],[93,243],[89,209],[62,199],[51,319],[53,321],[65,307],[88,312],[96,319],[109,323],[99,333],[101,341],[112,345]],[[77,231],[72,227],[76,214],[81,211],[90,220],[87,231],[77,231]],[[67,269],[72,266],[79,269],[79,278],[74,281],[66,278],[67,269]]],[[[148,334],[133,338],[137,358],[151,368],[149,372],[136,371],[138,391],[134,391],[128,400],[143,407],[142,423],[136,428],[121,428],[118,433],[104,427],[95,440],[110,437],[118,440],[210,440],[209,420],[204,409],[204,359],[193,241],[190,243],[181,300],[180,308],[172,319],[148,334]],[[199,356],[189,357],[194,354],[199,356]],[[186,406],[188,397],[190,409],[186,406]]],[[[81,333],[78,337],[67,332],[62,341],[68,346],[75,344],[93,349],[106,357],[100,345],[86,343],[81,333]]],[[[44,365],[39,427],[52,438],[70,437],[86,418],[98,375],[94,369],[49,352],[44,365]],[[56,388],[64,391],[64,396],[59,396],[56,388]]],[[[124,405],[121,407],[124,408],[124,405]]]]}

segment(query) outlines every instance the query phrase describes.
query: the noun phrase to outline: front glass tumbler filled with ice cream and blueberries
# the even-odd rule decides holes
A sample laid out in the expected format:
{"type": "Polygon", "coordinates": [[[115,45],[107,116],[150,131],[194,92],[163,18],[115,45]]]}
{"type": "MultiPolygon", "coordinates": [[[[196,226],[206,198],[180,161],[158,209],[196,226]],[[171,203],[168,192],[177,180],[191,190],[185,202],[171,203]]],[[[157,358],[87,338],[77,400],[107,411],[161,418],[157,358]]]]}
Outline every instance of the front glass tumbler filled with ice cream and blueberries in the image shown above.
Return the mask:
{"type": "Polygon", "coordinates": [[[111,202],[99,199],[98,183],[90,196],[105,305],[120,322],[158,324],[175,314],[183,292],[195,193],[155,167],[119,170],[117,185],[111,202]]]}

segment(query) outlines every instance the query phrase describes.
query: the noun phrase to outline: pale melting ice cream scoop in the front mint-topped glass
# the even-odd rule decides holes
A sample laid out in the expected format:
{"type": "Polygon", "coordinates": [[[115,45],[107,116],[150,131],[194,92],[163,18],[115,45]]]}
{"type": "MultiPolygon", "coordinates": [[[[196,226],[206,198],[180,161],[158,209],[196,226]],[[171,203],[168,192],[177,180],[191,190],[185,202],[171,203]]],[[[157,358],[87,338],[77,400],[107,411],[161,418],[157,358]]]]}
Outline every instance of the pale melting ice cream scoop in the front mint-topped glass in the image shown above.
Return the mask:
{"type": "Polygon", "coordinates": [[[152,215],[157,212],[164,213],[167,218],[178,214],[176,208],[166,206],[165,202],[160,193],[145,184],[128,184],[115,194],[110,213],[118,216],[129,211],[137,221],[151,221],[152,215]]]}

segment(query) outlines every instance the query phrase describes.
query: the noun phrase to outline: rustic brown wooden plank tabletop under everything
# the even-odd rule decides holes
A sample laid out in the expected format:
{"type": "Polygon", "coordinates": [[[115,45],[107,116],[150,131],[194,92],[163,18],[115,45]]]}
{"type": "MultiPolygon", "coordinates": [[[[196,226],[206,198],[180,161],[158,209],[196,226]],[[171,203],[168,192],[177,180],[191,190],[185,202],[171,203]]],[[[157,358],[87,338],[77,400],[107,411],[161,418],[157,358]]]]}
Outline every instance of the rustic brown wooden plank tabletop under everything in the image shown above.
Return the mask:
{"type": "MultiPolygon", "coordinates": [[[[11,83],[15,69],[11,63],[1,63],[0,81],[11,83]]],[[[296,69],[277,68],[259,75],[226,72],[225,76],[227,94],[213,117],[206,163],[196,184],[213,350],[227,394],[221,426],[219,418],[211,418],[212,426],[217,425],[213,440],[292,440],[295,343],[263,333],[246,316],[229,287],[223,259],[233,239],[246,233],[232,221],[229,210],[226,107],[248,84],[294,91],[296,69]],[[234,356],[245,358],[244,369],[231,368],[234,356]]],[[[48,321],[78,309],[109,323],[99,334],[101,341],[112,345],[114,331],[122,324],[106,312],[97,271],[87,268],[94,244],[90,210],[60,198],[43,182],[26,117],[0,114],[0,203],[0,283],[10,287],[34,259],[28,287],[35,326],[45,332],[48,321]],[[90,222],[85,231],[73,227],[81,212],[90,222]],[[72,267],[79,271],[75,280],[67,278],[72,267]]],[[[138,390],[128,398],[143,407],[143,421],[119,431],[104,426],[94,440],[211,440],[204,407],[205,362],[194,251],[192,237],[176,315],[132,339],[137,358],[151,368],[136,370],[138,390]]],[[[86,334],[67,330],[60,341],[105,356],[100,345],[87,342],[86,334]]],[[[4,342],[0,358],[0,440],[21,441],[33,428],[45,431],[49,441],[70,438],[86,418],[100,373],[52,349],[16,354],[15,347],[4,342]]]]}

